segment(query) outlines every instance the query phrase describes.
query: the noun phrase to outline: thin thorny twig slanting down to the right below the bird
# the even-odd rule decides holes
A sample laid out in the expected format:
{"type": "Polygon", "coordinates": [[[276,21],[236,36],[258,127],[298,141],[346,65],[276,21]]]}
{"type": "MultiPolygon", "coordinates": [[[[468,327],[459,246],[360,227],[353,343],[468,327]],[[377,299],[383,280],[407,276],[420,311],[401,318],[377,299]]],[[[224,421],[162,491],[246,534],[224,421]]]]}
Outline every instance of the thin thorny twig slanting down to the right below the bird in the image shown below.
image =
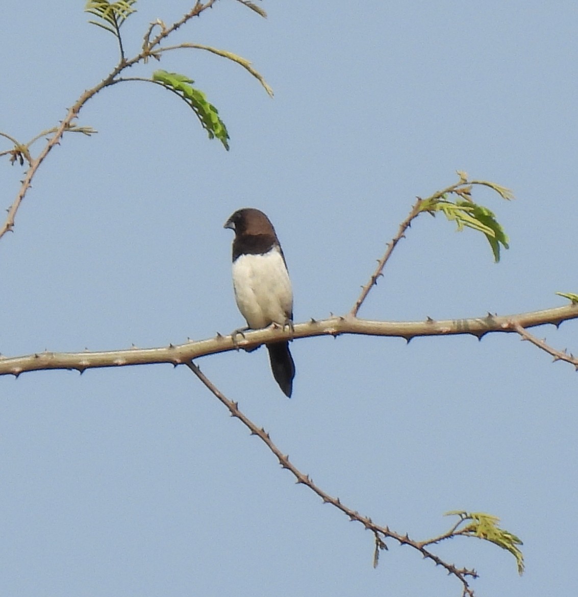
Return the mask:
{"type": "Polygon", "coordinates": [[[410,539],[407,534],[401,535],[399,533],[395,533],[389,529],[389,527],[383,527],[374,523],[371,518],[368,516],[363,516],[359,514],[356,510],[351,509],[350,507],[343,504],[339,497],[330,496],[328,493],[323,491],[318,485],[316,485],[313,480],[309,477],[309,475],[305,475],[302,473],[297,467],[289,460],[287,454],[283,454],[281,450],[273,443],[272,439],[270,438],[269,433],[263,429],[263,427],[259,428],[250,418],[248,418],[244,413],[239,410],[239,405],[237,402],[233,402],[229,400],[212,382],[205,376],[202,371],[192,362],[189,361],[185,363],[186,366],[202,381],[202,383],[213,393],[214,396],[219,399],[222,404],[225,405],[227,410],[229,410],[230,416],[238,418],[241,423],[250,430],[251,435],[256,435],[259,439],[269,448],[269,450],[275,455],[281,467],[285,470],[288,470],[295,478],[298,484],[306,485],[309,487],[313,493],[318,495],[325,504],[331,504],[332,506],[336,507],[338,510],[343,512],[346,516],[349,517],[351,521],[359,522],[364,526],[366,530],[371,531],[376,538],[392,538],[395,541],[398,541],[400,545],[408,545],[413,547],[417,551],[419,551],[423,558],[430,559],[431,561],[435,562],[436,565],[445,568],[448,574],[452,574],[454,577],[458,578],[463,586],[463,595],[469,595],[471,597],[474,596],[474,591],[470,588],[468,578],[477,578],[478,574],[475,570],[469,570],[468,568],[457,568],[454,564],[450,564],[449,562],[445,562],[439,556],[436,556],[435,553],[430,552],[425,547],[425,543],[422,541],[415,541],[410,539]]]}

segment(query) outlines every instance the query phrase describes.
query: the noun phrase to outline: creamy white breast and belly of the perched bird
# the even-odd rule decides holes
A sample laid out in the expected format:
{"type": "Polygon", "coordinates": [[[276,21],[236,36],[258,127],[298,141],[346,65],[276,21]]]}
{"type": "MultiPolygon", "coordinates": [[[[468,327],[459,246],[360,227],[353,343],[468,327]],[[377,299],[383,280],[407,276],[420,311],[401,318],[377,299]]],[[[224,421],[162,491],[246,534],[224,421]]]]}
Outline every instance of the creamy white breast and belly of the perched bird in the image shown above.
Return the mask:
{"type": "Polygon", "coordinates": [[[233,261],[233,287],[239,311],[250,328],[284,325],[293,312],[293,291],[278,247],[233,261]]]}

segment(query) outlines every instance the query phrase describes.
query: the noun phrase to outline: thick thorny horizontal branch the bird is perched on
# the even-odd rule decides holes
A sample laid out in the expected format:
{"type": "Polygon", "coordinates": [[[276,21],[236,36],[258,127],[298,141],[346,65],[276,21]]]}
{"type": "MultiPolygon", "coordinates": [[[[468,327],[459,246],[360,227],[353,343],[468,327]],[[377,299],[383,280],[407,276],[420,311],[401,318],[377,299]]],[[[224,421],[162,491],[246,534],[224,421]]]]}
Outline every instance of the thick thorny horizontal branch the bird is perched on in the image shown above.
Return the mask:
{"type": "Polygon", "coordinates": [[[371,321],[347,315],[294,325],[293,330],[270,327],[263,330],[245,332],[244,338],[221,336],[207,340],[188,341],[186,344],[167,347],[127,350],[107,350],[103,352],[39,352],[32,355],[7,358],[0,356],[0,376],[19,376],[26,371],[48,369],[75,369],[81,373],[99,367],[126,367],[127,365],[151,365],[170,363],[182,365],[191,359],[213,355],[229,350],[250,349],[260,344],[296,338],[315,336],[340,336],[359,334],[361,336],[401,337],[409,341],[418,336],[457,336],[471,334],[482,338],[492,332],[519,333],[516,324],[522,328],[536,325],[559,325],[562,321],[578,318],[578,304],[568,304],[557,309],[547,309],[518,315],[497,316],[488,313],[485,317],[471,319],[447,319],[445,321],[371,321]]]}

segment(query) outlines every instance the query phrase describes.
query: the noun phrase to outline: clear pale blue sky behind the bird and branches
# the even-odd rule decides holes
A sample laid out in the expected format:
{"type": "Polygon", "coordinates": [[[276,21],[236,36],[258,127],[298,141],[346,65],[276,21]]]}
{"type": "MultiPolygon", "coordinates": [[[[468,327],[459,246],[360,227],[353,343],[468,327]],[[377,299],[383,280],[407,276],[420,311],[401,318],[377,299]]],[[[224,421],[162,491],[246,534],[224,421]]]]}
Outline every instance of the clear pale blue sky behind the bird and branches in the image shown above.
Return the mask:
{"type": "MultiPolygon", "coordinates": [[[[84,2],[4,7],[0,130],[26,140],[57,124],[112,69],[111,35],[84,2]]],[[[141,1],[147,24],[185,0],[141,1]]],[[[227,217],[265,211],[281,238],[296,321],[345,313],[415,196],[465,170],[514,190],[497,214],[511,249],[422,217],[360,316],[423,320],[565,304],[578,292],[578,152],[572,2],[236,2],[133,69],[182,72],[220,111],[230,152],[184,103],[142,83],[82,110],[0,240],[0,352],[182,343],[243,324],[230,282],[227,217]]],[[[37,146],[39,147],[39,146],[37,146]]],[[[2,145],[0,149],[7,149],[2,145]]],[[[0,164],[2,205],[22,173],[0,164]]],[[[536,333],[576,352],[576,323],[536,333]]],[[[343,503],[415,538],[442,514],[491,512],[524,541],[506,552],[456,540],[476,595],[574,595],[577,378],[513,335],[295,341],[287,400],[266,352],[199,365],[303,472],[343,503]],[[555,571],[555,573],[553,573],[555,571]]],[[[460,595],[459,583],[373,537],[295,485],[185,368],[55,371],[0,378],[0,576],[11,597],[53,595],[460,595]]]]}

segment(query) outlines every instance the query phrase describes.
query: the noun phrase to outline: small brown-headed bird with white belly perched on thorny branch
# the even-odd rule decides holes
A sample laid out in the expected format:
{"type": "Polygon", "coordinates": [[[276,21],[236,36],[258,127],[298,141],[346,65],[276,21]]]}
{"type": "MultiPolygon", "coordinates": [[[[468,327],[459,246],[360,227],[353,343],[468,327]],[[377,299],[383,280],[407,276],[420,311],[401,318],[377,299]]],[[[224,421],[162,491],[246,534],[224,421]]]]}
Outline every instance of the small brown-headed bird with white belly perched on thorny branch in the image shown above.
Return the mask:
{"type": "MultiPolygon", "coordinates": [[[[247,320],[245,330],[260,330],[272,324],[293,329],[291,280],[269,218],[262,211],[247,207],[235,211],[223,227],[235,232],[233,290],[239,311],[247,320]]],[[[291,398],[295,364],[289,342],[270,342],[266,346],[273,377],[285,396],[291,398]]]]}

